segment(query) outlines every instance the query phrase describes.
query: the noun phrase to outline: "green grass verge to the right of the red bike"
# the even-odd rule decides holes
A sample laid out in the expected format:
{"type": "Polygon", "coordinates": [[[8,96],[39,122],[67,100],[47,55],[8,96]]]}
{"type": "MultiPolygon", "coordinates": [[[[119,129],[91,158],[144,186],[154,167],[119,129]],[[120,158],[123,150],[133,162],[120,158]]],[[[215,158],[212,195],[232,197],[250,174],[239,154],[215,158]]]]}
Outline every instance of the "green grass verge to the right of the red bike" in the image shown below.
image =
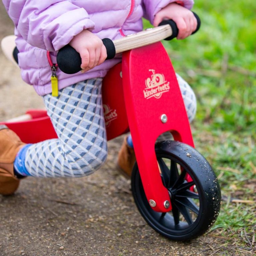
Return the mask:
{"type": "Polygon", "coordinates": [[[195,145],[222,189],[221,211],[208,234],[216,238],[214,255],[256,253],[255,10],[253,0],[198,0],[193,11],[200,31],[164,42],[176,72],[197,95],[195,145]]]}

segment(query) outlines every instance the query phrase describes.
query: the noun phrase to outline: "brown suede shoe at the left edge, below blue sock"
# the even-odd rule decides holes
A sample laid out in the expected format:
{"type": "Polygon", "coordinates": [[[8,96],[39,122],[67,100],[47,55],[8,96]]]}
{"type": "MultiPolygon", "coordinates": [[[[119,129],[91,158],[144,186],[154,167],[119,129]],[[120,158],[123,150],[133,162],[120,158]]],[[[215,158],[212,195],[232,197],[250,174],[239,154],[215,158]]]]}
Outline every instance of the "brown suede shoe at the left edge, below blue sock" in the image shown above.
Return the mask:
{"type": "Polygon", "coordinates": [[[8,129],[5,125],[0,125],[0,194],[11,195],[18,186],[19,179],[14,175],[13,162],[18,151],[25,146],[19,136],[8,129]]]}

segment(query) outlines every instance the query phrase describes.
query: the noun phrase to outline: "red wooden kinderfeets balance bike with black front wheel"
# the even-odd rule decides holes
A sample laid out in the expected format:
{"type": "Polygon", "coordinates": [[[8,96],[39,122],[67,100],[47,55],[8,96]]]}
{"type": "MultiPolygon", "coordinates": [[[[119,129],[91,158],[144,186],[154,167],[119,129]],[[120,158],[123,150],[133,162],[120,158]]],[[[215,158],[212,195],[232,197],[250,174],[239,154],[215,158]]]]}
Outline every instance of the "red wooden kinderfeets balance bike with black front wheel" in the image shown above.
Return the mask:
{"type": "MultiPolygon", "coordinates": [[[[108,58],[123,52],[122,63],[103,79],[103,109],[108,140],[131,132],[137,160],[131,187],[141,215],[163,236],[190,240],[215,222],[221,193],[210,164],[194,148],[176,75],[159,42],[178,34],[175,23],[165,22],[114,42],[103,39],[108,58]],[[167,131],[174,140],[156,143],[167,131]]],[[[59,51],[57,63],[65,73],[80,71],[80,56],[70,46],[59,51]]],[[[27,143],[57,137],[46,111],[26,116],[31,119],[4,124],[27,143]]]]}

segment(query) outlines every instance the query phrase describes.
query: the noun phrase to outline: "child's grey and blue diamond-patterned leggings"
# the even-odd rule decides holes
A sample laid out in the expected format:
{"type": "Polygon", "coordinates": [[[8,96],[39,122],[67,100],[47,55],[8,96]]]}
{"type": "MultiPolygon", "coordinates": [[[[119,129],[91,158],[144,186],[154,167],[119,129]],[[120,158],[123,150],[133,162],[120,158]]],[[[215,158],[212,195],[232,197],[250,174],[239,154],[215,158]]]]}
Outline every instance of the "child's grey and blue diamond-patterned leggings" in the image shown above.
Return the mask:
{"type": "MultiPolygon", "coordinates": [[[[189,120],[196,112],[196,98],[179,76],[189,120]]],[[[35,177],[81,177],[99,169],[107,158],[107,139],[101,96],[102,79],[89,79],[45,95],[47,113],[58,135],[32,144],[25,157],[28,173],[35,177]]]]}

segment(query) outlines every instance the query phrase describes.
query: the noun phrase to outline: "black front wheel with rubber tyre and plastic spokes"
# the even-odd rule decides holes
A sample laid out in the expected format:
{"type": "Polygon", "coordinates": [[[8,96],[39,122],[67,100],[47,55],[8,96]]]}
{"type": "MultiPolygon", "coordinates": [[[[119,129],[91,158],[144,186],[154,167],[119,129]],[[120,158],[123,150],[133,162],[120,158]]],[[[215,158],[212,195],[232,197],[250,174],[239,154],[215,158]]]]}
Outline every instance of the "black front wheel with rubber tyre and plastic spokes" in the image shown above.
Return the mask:
{"type": "Polygon", "coordinates": [[[138,210],[154,230],[169,239],[185,241],[204,234],[215,222],[221,202],[219,183],[210,164],[194,148],[177,141],[156,143],[155,152],[172,210],[159,213],[150,207],[135,163],[131,187],[138,210]],[[170,167],[163,159],[170,160],[170,167]],[[186,174],[192,182],[186,181],[186,174]],[[197,193],[189,189],[192,186],[196,187],[197,193]]]}

